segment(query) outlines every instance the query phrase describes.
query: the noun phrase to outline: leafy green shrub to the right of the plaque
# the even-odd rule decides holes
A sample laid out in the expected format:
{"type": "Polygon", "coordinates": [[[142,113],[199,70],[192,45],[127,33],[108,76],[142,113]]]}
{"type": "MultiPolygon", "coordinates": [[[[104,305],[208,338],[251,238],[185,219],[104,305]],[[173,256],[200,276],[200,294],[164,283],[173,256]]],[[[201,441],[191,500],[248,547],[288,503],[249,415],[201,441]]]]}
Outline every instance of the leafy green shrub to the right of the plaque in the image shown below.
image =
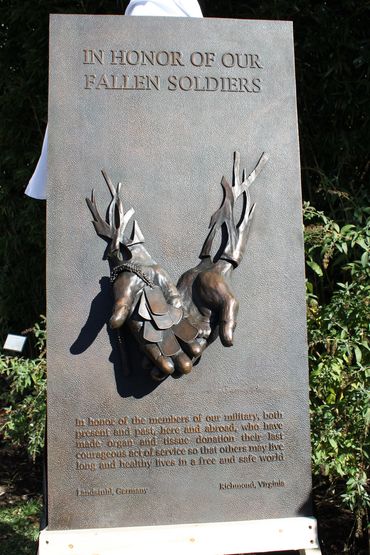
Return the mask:
{"type": "Polygon", "coordinates": [[[309,204],[304,216],[313,472],[361,513],[370,505],[370,218],[340,228],[309,204]]]}

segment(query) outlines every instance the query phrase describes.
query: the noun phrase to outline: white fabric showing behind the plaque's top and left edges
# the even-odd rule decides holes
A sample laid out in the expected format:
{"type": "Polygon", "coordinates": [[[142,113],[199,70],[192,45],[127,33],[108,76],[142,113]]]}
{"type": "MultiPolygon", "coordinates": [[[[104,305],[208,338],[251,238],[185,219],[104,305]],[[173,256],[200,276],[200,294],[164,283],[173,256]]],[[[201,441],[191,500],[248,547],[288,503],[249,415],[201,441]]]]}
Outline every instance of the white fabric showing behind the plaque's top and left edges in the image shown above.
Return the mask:
{"type": "MultiPolygon", "coordinates": [[[[197,0],[131,0],[125,15],[203,17],[197,0]]],[[[47,151],[48,129],[46,128],[41,156],[25,191],[29,197],[46,198],[47,151]]]]}

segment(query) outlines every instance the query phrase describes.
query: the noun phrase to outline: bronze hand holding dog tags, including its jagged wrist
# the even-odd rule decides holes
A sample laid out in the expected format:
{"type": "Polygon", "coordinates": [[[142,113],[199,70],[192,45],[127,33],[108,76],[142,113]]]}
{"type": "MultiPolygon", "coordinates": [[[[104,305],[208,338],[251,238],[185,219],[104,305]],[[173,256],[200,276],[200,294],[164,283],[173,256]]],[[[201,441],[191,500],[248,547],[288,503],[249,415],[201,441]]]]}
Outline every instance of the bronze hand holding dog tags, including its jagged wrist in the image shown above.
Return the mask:
{"type": "MultiPolygon", "coordinates": [[[[187,374],[201,349],[201,342],[194,341],[198,330],[187,320],[182,299],[169,275],[143,246],[144,237],[136,221],[131,236],[124,235],[133,210],[124,213],[120,184],[115,189],[102,173],[113,197],[108,222],[98,212],[94,192],[86,201],[96,232],[111,240],[108,259],[114,307],[110,326],[120,330],[127,322],[141,350],[155,365],[153,379],[187,374]]],[[[120,331],[118,334],[120,339],[120,331]]]]}

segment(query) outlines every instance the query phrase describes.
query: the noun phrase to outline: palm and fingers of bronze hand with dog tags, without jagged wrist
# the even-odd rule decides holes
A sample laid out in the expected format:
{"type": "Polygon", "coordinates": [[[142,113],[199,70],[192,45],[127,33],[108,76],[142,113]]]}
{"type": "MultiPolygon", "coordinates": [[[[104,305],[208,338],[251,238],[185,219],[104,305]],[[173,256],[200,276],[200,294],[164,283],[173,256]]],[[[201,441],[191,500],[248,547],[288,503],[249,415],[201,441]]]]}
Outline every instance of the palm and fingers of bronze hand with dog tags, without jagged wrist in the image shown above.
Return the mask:
{"type": "Polygon", "coordinates": [[[142,352],[153,363],[153,379],[188,374],[200,354],[198,330],[182,308],[182,298],[167,272],[142,245],[131,248],[131,258],[110,255],[114,307],[110,326],[127,322],[142,352]]]}

